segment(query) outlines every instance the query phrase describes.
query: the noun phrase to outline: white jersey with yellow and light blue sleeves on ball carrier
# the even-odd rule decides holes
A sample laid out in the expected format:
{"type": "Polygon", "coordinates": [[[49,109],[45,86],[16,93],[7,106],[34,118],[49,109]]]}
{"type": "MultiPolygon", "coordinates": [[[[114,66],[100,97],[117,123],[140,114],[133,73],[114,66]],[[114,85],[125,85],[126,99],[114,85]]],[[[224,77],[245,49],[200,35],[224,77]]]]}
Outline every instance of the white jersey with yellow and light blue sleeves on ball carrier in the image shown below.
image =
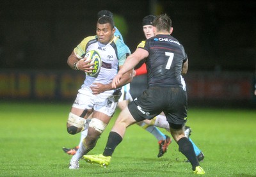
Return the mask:
{"type": "MultiPolygon", "coordinates": [[[[79,45],[77,45],[74,52],[77,58],[82,59],[86,52],[90,50],[96,50],[99,53],[102,60],[102,66],[100,68],[99,75],[96,78],[86,75],[82,88],[90,87],[93,82],[101,84],[109,84],[112,82],[118,72],[118,66],[124,65],[125,59],[131,54],[127,45],[125,45],[125,43],[116,36],[114,36],[113,40],[106,45],[98,42],[97,35],[88,36],[84,38],[79,45]]],[[[109,90],[104,93],[113,92],[114,90],[109,90]]]]}

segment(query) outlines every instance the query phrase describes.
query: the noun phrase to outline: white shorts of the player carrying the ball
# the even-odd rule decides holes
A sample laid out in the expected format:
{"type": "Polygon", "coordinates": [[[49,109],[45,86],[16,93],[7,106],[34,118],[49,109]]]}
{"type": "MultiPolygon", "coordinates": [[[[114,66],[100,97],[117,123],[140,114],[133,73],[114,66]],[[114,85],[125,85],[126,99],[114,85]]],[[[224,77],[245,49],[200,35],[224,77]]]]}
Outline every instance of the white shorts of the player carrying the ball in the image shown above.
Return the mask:
{"type": "Polygon", "coordinates": [[[72,107],[78,109],[93,109],[102,112],[108,116],[113,116],[118,104],[121,93],[100,93],[93,95],[90,88],[81,88],[78,90],[76,100],[72,107]]]}

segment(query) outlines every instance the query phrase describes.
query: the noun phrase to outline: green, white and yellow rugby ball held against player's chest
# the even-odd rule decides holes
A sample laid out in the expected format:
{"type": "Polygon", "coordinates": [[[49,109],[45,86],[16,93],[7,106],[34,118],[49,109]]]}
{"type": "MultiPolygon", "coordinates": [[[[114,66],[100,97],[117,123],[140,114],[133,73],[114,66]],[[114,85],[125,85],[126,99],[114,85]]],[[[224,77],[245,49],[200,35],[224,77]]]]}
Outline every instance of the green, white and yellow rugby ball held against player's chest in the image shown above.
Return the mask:
{"type": "Polygon", "coordinates": [[[90,50],[89,52],[86,53],[86,55],[84,56],[84,59],[85,59],[84,61],[92,59],[90,64],[92,63],[94,64],[93,66],[91,66],[91,68],[94,68],[94,70],[92,70],[91,73],[87,73],[87,75],[90,75],[91,77],[97,77],[99,75],[101,64],[102,64],[99,53],[96,50],[90,50]]]}

